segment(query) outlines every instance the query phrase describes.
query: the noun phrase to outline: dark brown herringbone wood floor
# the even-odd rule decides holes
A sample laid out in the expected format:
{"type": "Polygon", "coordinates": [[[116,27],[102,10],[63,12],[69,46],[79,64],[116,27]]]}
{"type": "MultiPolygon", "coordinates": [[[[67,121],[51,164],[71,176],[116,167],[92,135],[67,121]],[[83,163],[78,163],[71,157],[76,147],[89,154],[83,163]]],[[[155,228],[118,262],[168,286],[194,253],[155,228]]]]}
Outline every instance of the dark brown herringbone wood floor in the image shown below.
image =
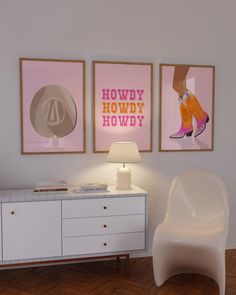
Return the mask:
{"type": "MultiPolygon", "coordinates": [[[[236,250],[226,252],[226,295],[236,295],[236,250]]],[[[0,272],[0,294],[4,295],[218,295],[217,284],[201,275],[178,275],[157,288],[152,259],[130,261],[130,275],[124,262],[115,261],[8,269],[0,272]]]]}

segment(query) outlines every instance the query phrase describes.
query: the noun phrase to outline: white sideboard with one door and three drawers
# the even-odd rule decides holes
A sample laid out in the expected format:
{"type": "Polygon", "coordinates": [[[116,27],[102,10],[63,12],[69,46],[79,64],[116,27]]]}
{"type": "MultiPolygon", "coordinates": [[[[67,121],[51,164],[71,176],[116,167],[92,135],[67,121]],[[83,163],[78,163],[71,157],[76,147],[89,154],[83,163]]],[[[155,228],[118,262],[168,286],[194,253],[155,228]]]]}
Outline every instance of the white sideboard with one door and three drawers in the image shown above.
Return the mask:
{"type": "Polygon", "coordinates": [[[146,249],[147,193],[0,191],[0,266],[129,255],[146,249]]]}

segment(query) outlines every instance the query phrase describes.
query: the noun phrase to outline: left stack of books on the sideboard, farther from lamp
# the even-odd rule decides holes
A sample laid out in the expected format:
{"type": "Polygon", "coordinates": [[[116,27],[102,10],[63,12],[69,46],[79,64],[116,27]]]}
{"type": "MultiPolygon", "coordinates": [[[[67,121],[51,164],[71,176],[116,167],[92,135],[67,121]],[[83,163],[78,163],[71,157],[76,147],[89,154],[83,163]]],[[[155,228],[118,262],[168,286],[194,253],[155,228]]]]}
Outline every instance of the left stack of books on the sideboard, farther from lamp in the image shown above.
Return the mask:
{"type": "Polygon", "coordinates": [[[33,191],[35,193],[67,192],[68,185],[66,180],[38,182],[33,191]]]}

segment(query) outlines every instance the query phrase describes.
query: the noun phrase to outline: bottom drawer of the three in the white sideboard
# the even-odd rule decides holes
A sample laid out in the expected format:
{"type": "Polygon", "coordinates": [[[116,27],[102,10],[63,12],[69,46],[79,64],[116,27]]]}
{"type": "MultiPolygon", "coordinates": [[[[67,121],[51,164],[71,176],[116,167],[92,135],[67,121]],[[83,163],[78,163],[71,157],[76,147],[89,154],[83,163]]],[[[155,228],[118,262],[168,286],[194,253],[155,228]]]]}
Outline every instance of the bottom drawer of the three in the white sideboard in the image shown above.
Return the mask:
{"type": "Polygon", "coordinates": [[[145,248],[144,233],[73,237],[63,239],[63,255],[119,252],[145,248]]]}

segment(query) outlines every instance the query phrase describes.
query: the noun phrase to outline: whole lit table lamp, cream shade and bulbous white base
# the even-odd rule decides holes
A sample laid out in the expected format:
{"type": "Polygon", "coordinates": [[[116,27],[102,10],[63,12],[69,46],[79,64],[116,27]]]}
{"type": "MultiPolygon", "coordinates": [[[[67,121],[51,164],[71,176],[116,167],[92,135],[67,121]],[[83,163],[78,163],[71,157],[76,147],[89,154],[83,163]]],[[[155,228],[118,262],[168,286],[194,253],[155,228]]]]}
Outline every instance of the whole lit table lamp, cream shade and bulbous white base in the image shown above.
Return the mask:
{"type": "Polygon", "coordinates": [[[123,167],[117,170],[116,188],[118,190],[130,190],[131,170],[125,167],[125,163],[141,161],[137,144],[135,142],[113,142],[109,150],[107,161],[123,163],[123,167]]]}

